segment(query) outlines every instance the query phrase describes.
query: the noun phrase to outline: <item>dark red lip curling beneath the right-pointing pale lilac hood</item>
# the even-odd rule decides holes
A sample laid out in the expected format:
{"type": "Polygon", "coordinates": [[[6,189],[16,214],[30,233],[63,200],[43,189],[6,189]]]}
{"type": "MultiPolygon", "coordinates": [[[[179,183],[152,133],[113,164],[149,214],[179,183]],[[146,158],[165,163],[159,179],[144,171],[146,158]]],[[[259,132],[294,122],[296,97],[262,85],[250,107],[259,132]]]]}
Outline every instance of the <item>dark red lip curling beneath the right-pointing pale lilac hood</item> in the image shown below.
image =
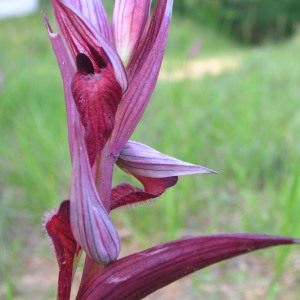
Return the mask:
{"type": "Polygon", "coordinates": [[[167,178],[143,178],[137,177],[144,185],[144,189],[136,188],[129,183],[121,183],[115,186],[111,192],[110,209],[126,205],[141,204],[160,196],[167,188],[176,184],[178,177],[167,178]]]}

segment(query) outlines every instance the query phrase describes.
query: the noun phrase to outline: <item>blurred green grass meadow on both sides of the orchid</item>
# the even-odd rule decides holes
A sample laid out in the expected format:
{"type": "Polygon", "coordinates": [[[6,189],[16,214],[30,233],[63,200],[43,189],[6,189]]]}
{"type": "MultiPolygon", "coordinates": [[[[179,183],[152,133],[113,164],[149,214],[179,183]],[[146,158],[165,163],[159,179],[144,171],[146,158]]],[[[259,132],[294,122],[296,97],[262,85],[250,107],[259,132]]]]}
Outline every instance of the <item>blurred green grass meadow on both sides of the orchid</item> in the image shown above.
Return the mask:
{"type": "MultiPolygon", "coordinates": [[[[54,24],[46,2],[43,10],[54,24]]],[[[114,211],[124,253],[191,234],[299,237],[300,35],[246,48],[175,16],[163,70],[189,72],[188,53],[197,40],[202,47],[194,60],[230,57],[238,69],[160,80],[133,138],[220,175],[182,177],[154,205],[114,211]]],[[[28,262],[33,256],[51,257],[41,217],[68,198],[70,182],[62,83],[39,14],[0,20],[0,71],[0,296],[28,299],[32,290],[22,279],[28,262]]],[[[116,170],[116,182],[125,178],[116,170]]],[[[297,250],[266,250],[250,261],[198,272],[190,277],[184,299],[197,299],[199,293],[206,299],[249,299],[247,291],[260,289],[255,299],[266,299],[272,279],[270,299],[288,291],[288,299],[297,299],[292,298],[300,292],[297,250]]],[[[37,299],[51,299],[53,286],[36,293],[37,299]]]]}

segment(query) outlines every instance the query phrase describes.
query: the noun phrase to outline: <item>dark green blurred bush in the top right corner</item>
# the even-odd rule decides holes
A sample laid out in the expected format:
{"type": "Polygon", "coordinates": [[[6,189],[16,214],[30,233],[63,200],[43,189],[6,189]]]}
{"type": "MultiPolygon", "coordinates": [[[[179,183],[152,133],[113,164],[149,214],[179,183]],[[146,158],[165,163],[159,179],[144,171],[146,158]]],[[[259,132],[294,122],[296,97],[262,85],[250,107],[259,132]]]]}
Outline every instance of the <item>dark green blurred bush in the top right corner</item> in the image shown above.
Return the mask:
{"type": "Polygon", "coordinates": [[[298,0],[177,0],[174,10],[248,44],[290,37],[300,20],[298,0]]]}

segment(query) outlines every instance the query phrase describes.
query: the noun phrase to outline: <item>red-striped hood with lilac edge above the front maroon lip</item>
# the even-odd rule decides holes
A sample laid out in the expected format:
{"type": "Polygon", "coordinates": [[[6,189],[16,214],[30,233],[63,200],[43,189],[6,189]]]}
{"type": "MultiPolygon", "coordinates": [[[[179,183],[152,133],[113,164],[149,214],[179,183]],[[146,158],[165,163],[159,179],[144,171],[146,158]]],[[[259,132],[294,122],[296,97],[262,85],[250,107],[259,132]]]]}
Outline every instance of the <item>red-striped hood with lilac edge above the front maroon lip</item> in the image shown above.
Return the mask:
{"type": "Polygon", "coordinates": [[[100,49],[103,48],[113,66],[117,81],[121,85],[122,90],[125,91],[127,88],[125,69],[112,45],[67,1],[52,0],[52,2],[56,20],[74,61],[79,53],[84,53],[91,59],[95,71],[99,72],[97,59],[98,54],[101,53],[100,49]]]}

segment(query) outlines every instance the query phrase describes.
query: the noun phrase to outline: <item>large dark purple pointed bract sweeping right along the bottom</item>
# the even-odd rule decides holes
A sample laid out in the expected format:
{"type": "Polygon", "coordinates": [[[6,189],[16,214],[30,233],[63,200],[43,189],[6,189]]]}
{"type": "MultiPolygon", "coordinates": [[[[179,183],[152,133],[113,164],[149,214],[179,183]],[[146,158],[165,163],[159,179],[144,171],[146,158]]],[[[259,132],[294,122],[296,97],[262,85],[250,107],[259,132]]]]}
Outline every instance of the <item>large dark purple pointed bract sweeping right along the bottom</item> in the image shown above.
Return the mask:
{"type": "Polygon", "coordinates": [[[189,237],[124,257],[98,271],[77,300],[138,300],[197,270],[258,249],[300,243],[263,234],[189,237]]]}

